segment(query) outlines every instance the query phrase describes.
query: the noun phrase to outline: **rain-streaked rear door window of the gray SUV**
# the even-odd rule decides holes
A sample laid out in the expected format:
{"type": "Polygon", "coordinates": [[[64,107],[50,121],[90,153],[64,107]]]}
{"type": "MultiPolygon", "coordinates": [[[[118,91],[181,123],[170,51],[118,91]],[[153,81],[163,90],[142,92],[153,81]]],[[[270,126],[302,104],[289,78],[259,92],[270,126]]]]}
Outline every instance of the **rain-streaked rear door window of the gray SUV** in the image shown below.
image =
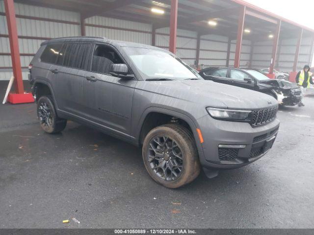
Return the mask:
{"type": "Polygon", "coordinates": [[[91,44],[66,43],[63,45],[57,64],[76,69],[87,69],[91,44]]]}

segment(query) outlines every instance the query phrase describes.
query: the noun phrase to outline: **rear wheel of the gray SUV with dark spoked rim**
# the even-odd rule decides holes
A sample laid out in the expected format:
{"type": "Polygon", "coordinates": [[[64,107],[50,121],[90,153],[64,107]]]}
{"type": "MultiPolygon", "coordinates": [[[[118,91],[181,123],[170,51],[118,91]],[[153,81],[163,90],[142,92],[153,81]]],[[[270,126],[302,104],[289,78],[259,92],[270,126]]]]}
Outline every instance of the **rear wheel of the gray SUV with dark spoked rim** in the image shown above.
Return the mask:
{"type": "Polygon", "coordinates": [[[50,134],[63,131],[67,124],[66,119],[57,116],[51,95],[39,98],[37,102],[37,117],[43,130],[50,134]]]}

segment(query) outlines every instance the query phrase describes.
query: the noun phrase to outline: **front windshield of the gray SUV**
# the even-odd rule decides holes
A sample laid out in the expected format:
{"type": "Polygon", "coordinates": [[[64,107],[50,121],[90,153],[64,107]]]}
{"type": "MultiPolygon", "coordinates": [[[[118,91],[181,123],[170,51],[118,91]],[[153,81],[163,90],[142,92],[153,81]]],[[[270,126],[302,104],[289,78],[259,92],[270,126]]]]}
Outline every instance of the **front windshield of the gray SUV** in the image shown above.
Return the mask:
{"type": "Polygon", "coordinates": [[[202,79],[182,60],[166,51],[140,47],[125,47],[125,51],[145,80],[202,79]]]}

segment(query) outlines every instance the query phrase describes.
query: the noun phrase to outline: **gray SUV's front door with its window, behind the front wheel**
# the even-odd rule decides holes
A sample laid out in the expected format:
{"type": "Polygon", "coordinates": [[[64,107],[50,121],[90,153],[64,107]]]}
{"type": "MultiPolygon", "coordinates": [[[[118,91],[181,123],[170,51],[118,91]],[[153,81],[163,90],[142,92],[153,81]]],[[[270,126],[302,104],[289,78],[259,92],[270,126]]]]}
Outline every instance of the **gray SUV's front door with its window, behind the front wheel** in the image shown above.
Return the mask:
{"type": "Polygon", "coordinates": [[[130,135],[136,80],[110,75],[112,64],[124,63],[113,47],[96,45],[91,71],[84,73],[84,113],[109,131],[130,135]]]}

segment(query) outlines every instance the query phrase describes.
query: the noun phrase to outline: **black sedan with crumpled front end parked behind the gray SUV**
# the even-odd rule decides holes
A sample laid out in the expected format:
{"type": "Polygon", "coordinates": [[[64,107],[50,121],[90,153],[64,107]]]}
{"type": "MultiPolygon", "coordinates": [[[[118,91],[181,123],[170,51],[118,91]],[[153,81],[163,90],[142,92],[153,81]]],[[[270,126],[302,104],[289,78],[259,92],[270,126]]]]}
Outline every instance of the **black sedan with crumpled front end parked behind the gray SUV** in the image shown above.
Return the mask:
{"type": "Polygon", "coordinates": [[[199,72],[206,80],[268,94],[279,104],[294,106],[302,98],[302,92],[295,83],[283,79],[269,79],[261,72],[251,69],[207,68],[199,72]]]}

